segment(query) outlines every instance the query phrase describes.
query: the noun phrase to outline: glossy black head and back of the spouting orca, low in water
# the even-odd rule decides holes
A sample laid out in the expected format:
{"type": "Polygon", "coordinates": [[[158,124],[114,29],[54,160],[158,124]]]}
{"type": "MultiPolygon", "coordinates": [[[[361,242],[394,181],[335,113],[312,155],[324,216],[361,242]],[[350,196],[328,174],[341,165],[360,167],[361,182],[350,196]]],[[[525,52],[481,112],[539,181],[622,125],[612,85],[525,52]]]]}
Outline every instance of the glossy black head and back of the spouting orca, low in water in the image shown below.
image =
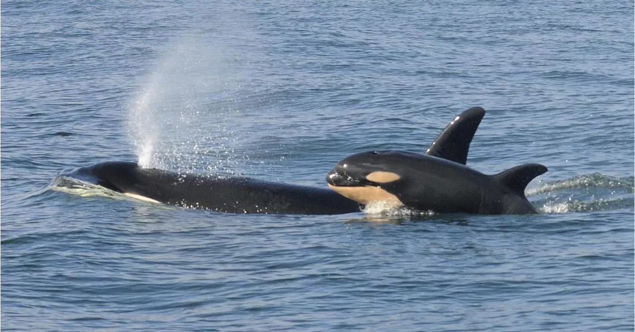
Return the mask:
{"type": "Polygon", "coordinates": [[[178,174],[137,163],[108,162],[78,168],[71,176],[117,192],[164,204],[229,213],[335,215],[359,212],[359,204],[330,189],[244,177],[178,174]]]}

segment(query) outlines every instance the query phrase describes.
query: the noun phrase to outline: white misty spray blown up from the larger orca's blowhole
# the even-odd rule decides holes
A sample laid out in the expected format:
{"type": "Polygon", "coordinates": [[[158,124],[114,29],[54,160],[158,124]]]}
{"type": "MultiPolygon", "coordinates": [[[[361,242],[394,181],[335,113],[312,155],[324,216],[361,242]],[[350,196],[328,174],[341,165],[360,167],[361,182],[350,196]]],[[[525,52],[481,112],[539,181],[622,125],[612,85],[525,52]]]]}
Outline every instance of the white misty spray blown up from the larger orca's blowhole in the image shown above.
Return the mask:
{"type": "Polygon", "coordinates": [[[191,37],[166,48],[128,112],[140,166],[232,173],[243,76],[226,51],[191,37]]]}

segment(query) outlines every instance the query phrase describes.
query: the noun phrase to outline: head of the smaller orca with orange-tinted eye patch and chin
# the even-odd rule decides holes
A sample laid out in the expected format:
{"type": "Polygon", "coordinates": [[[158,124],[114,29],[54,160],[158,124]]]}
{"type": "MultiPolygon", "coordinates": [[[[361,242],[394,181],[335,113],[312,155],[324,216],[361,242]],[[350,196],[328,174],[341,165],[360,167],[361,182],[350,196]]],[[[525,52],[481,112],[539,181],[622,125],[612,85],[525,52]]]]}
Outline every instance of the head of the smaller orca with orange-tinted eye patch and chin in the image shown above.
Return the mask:
{"type": "Polygon", "coordinates": [[[326,182],[340,195],[360,204],[401,206],[396,193],[403,191],[410,173],[404,161],[420,156],[394,150],[360,152],[339,161],[326,175],[326,182]]]}

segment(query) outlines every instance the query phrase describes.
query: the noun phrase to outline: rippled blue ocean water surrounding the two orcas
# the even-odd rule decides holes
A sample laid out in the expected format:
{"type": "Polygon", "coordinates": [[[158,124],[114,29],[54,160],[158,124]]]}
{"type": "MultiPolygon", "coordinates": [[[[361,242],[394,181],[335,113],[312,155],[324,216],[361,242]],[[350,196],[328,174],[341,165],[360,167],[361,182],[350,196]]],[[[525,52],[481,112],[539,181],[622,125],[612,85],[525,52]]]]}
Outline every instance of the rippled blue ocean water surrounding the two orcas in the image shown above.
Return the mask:
{"type": "Polygon", "coordinates": [[[633,331],[631,1],[0,4],[2,331],[633,331]],[[488,113],[468,165],[530,216],[233,215],[60,174],[324,186],[488,113]]]}

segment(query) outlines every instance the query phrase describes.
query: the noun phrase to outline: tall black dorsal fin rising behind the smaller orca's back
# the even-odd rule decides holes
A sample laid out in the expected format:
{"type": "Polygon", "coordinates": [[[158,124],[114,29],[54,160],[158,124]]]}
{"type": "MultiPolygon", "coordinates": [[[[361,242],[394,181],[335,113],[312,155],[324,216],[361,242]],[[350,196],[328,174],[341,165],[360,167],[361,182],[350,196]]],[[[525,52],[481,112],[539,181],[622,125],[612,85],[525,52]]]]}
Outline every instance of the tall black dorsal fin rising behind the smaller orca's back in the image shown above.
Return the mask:
{"type": "Polygon", "coordinates": [[[436,140],[425,150],[425,154],[465,164],[472,137],[483,116],[485,116],[485,110],[481,107],[472,107],[461,113],[441,131],[436,140]]]}

